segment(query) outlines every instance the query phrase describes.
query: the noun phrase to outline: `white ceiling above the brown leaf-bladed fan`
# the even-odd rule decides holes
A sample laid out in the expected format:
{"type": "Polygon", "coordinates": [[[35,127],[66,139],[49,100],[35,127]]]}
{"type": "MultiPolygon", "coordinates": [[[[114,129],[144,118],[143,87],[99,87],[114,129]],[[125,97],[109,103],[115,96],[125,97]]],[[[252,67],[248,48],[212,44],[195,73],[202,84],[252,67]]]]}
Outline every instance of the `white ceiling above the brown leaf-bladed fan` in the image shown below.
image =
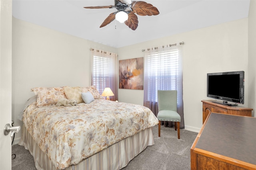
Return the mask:
{"type": "Polygon", "coordinates": [[[76,37],[124,47],[168,35],[248,17],[250,0],[143,0],[158,8],[157,16],[138,16],[135,31],[114,20],[100,28],[116,9],[114,0],[12,0],[12,15],[76,37]],[[115,28],[116,27],[116,28],[115,28]]]}

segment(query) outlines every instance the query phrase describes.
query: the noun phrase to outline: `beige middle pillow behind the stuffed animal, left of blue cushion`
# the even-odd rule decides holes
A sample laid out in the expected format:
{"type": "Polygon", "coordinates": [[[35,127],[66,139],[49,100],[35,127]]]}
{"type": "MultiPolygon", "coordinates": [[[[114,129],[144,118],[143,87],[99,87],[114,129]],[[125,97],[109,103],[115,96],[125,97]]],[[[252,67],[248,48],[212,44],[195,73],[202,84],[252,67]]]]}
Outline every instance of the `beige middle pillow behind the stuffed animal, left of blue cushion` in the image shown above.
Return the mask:
{"type": "Polygon", "coordinates": [[[81,87],[66,86],[63,89],[67,99],[75,99],[78,104],[84,102],[84,100],[82,99],[81,87]]]}

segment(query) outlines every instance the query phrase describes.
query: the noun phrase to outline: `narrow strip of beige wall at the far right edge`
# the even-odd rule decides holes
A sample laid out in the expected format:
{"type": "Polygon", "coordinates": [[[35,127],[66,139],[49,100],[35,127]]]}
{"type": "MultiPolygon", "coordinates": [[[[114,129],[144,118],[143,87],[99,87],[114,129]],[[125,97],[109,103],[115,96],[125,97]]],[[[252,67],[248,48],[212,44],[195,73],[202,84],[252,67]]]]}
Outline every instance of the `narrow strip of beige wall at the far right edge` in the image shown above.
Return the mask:
{"type": "Polygon", "coordinates": [[[248,106],[253,108],[252,112],[256,117],[256,1],[250,1],[249,17],[248,17],[248,70],[249,70],[249,93],[248,106]]]}

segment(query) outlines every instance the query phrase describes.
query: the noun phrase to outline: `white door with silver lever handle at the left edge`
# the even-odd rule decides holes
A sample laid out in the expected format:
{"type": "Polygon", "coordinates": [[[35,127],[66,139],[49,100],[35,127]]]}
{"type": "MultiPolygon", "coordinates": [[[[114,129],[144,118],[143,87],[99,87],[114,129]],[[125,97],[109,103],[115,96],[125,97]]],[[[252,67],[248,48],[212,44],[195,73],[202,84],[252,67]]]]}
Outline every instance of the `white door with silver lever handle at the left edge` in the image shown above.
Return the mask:
{"type": "Polygon", "coordinates": [[[0,0],[0,170],[12,169],[12,0],[0,0]]]}

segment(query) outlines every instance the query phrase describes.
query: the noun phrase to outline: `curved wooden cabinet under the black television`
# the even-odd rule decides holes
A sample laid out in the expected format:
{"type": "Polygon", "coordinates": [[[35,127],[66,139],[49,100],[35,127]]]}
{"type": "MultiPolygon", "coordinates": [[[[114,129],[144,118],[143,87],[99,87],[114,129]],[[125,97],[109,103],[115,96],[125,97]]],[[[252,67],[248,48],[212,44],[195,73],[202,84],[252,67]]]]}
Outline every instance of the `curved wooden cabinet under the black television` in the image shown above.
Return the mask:
{"type": "Polygon", "coordinates": [[[226,106],[214,103],[215,100],[202,100],[203,102],[203,123],[210,112],[224,113],[230,115],[252,116],[251,108],[241,106],[226,106]]]}

